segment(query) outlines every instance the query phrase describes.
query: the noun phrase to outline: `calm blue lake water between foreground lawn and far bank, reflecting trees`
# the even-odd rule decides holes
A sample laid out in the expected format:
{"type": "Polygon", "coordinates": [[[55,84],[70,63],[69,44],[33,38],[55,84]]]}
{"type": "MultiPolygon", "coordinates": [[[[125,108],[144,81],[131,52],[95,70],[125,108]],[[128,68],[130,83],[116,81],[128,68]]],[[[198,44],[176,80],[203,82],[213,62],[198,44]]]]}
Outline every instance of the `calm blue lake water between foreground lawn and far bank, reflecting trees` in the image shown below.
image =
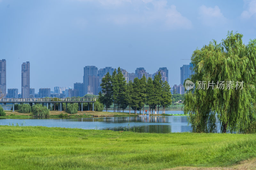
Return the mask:
{"type": "Polygon", "coordinates": [[[0,125],[133,131],[141,133],[190,132],[187,116],[92,117],[55,119],[0,119],[0,125]]]}

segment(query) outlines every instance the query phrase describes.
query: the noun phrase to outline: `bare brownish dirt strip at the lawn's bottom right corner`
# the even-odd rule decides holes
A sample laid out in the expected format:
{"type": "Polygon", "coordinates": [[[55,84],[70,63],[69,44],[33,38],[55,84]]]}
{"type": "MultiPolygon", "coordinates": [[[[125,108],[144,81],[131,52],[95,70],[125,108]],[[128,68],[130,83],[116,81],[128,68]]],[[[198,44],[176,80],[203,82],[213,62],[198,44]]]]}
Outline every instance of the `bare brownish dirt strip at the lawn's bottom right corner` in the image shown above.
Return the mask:
{"type": "MultiPolygon", "coordinates": [[[[183,166],[171,168],[168,170],[255,170],[256,169],[256,159],[242,161],[239,164],[228,166],[228,167],[193,167],[193,166],[183,166]]],[[[167,170],[167,169],[166,169],[167,170]]]]}

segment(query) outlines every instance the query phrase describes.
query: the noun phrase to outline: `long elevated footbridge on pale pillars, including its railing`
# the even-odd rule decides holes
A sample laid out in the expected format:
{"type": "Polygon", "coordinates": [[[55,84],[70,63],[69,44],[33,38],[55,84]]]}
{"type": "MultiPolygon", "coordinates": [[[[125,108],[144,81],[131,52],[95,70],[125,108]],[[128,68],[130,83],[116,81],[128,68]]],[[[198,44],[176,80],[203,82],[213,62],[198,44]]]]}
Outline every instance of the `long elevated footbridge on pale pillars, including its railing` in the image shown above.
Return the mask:
{"type": "MultiPolygon", "coordinates": [[[[92,103],[92,111],[94,111],[94,102],[96,101],[96,98],[22,98],[22,99],[9,99],[9,98],[2,98],[0,99],[0,103],[4,103],[4,106],[6,103],[12,103],[12,111],[14,112],[14,104],[15,103],[46,103],[46,107],[52,110],[52,103],[59,103],[58,110],[61,111],[62,103],[66,103],[66,110],[67,110],[67,104],[68,103],[78,103],[78,106],[81,104],[81,111],[83,111],[83,103],[92,103]]],[[[80,107],[79,107],[80,109],[80,107]]],[[[89,110],[89,105],[88,105],[89,110]]]]}

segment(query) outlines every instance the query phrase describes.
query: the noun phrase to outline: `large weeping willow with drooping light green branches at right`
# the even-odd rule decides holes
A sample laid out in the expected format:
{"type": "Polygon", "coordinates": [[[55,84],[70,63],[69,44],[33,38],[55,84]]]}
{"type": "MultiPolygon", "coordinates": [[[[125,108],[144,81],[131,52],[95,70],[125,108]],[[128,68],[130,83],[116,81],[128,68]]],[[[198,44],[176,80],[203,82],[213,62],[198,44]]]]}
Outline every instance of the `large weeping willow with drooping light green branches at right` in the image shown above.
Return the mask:
{"type": "Polygon", "coordinates": [[[193,52],[195,87],[185,94],[184,113],[194,132],[216,132],[218,123],[223,133],[241,132],[255,121],[256,41],[244,45],[242,37],[228,32],[220,44],[193,52]]]}

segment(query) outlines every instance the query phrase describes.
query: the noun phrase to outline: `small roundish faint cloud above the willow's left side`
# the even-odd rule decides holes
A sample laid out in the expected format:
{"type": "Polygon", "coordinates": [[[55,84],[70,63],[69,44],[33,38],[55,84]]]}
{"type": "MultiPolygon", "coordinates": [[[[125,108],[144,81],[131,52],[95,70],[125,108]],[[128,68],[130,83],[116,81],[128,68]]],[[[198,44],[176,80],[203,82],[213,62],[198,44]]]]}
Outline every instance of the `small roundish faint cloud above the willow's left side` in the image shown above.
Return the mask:
{"type": "Polygon", "coordinates": [[[227,21],[227,18],[223,16],[218,6],[211,8],[205,5],[199,7],[199,19],[201,19],[202,23],[206,26],[223,24],[227,21]]]}

